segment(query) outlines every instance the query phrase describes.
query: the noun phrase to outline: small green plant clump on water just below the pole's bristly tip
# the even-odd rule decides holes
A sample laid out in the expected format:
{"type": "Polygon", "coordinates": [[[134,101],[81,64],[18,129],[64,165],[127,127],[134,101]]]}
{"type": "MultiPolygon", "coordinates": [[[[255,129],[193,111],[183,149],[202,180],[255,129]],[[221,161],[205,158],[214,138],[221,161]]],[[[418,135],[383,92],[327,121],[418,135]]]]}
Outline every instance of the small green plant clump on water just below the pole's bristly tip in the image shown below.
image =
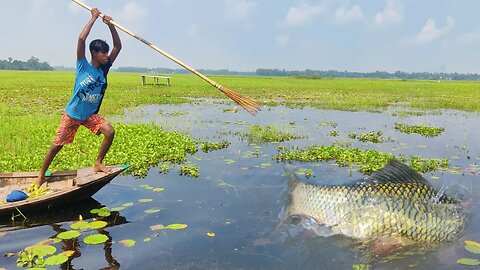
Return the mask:
{"type": "Polygon", "coordinates": [[[241,134],[240,136],[247,138],[249,143],[275,143],[303,138],[301,135],[281,131],[274,126],[262,127],[259,125],[251,126],[247,133],[241,134]]]}

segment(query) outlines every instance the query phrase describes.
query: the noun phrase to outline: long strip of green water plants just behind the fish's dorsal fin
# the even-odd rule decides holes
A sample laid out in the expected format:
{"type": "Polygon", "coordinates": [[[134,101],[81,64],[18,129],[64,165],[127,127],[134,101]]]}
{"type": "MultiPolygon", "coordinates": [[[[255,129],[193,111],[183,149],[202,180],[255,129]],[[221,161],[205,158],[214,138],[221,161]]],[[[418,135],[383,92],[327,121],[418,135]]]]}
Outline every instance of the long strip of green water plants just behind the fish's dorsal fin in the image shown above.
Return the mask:
{"type": "MultiPolygon", "coordinates": [[[[371,174],[383,168],[389,160],[395,158],[392,153],[383,153],[376,150],[362,150],[358,148],[346,148],[339,145],[331,146],[311,146],[307,149],[293,148],[291,150],[285,147],[279,147],[279,154],[273,159],[277,161],[335,161],[340,166],[358,165],[360,172],[371,174]]],[[[396,157],[406,162],[406,157],[396,157]]],[[[411,157],[410,166],[421,172],[433,172],[436,169],[446,169],[447,159],[423,159],[420,157],[411,157]]]]}

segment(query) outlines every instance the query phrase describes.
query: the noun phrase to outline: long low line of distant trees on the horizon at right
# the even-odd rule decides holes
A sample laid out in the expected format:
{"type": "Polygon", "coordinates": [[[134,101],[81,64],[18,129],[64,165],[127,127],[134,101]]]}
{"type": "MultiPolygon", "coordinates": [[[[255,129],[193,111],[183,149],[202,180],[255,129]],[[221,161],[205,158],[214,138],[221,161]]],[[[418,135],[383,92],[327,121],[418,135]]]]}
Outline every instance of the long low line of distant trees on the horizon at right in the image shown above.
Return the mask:
{"type": "Polygon", "coordinates": [[[306,78],[379,78],[379,79],[419,79],[419,80],[480,80],[480,75],[476,73],[445,73],[445,72],[350,72],[337,70],[310,70],[290,71],[285,69],[264,69],[256,70],[259,76],[282,76],[282,77],[306,77],[306,78]]]}

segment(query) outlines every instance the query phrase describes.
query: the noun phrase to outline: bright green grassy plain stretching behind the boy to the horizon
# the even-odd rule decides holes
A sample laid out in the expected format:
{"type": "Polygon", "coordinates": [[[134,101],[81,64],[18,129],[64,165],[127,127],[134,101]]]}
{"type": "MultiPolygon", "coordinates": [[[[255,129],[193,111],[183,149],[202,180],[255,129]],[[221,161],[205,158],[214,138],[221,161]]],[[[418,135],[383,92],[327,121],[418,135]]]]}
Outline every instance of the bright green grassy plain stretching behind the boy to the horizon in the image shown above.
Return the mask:
{"type": "MultiPolygon", "coordinates": [[[[125,109],[141,104],[188,102],[185,97],[225,98],[218,90],[193,75],[170,76],[171,87],[141,86],[140,74],[112,72],[100,113],[123,114],[125,109]]],[[[479,82],[240,76],[211,78],[256,99],[262,105],[384,110],[396,104],[420,110],[444,108],[480,112],[479,82]]],[[[54,137],[60,114],[70,98],[74,79],[73,72],[0,71],[0,171],[38,170],[54,137]]],[[[124,127],[119,125],[118,128],[124,127]]],[[[157,131],[158,136],[165,136],[158,132],[161,131],[157,131]]],[[[79,133],[79,138],[82,136],[86,135],[79,133]]],[[[180,137],[169,137],[172,145],[179,143],[177,139],[180,137]]],[[[85,141],[80,139],[74,145],[88,144],[91,140],[88,138],[85,141]]],[[[132,139],[141,141],[144,138],[117,138],[116,141],[132,139]]],[[[180,139],[182,142],[185,140],[189,139],[180,139]]],[[[56,159],[52,169],[72,169],[91,164],[99,141],[95,143],[88,149],[62,151],[63,156],[56,159]],[[69,157],[79,152],[85,156],[75,159],[69,157]],[[89,159],[85,160],[85,157],[89,159]]],[[[113,148],[112,151],[117,150],[113,148]]],[[[171,159],[177,161],[181,158],[175,156],[171,159]]],[[[128,158],[122,160],[128,161],[128,158]]],[[[146,161],[149,162],[152,161],[146,161]]]]}

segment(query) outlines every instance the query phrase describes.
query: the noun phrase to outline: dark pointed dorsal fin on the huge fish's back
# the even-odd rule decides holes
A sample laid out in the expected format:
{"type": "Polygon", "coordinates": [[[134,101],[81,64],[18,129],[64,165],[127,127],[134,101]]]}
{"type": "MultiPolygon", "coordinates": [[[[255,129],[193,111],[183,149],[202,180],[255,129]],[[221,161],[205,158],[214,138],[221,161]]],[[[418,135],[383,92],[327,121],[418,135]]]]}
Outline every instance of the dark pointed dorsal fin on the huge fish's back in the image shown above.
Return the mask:
{"type": "Polygon", "coordinates": [[[376,183],[422,183],[430,187],[430,183],[423,176],[396,159],[391,159],[385,167],[368,177],[368,180],[376,183]]]}

